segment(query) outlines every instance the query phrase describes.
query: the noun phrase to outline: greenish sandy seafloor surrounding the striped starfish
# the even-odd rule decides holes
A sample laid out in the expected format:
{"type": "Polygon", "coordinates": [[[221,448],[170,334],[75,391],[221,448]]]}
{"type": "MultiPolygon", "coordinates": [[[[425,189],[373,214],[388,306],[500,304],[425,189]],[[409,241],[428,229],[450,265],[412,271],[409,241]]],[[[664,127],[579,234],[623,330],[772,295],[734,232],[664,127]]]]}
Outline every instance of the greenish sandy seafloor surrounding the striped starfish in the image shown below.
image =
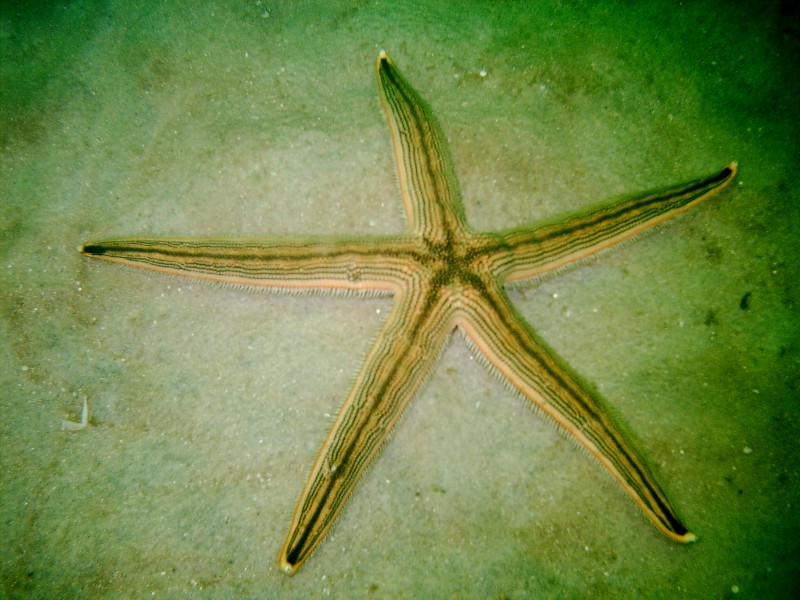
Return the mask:
{"type": "Polygon", "coordinates": [[[792,3],[419,4],[3,3],[0,597],[797,597],[792,3]],[[277,568],[391,300],[77,248],[401,231],[381,48],[442,122],[476,229],[739,161],[681,219],[511,292],[697,543],[665,539],[455,335],[333,534],[277,568]],[[89,426],[63,431],[84,398],[89,426]]]}

